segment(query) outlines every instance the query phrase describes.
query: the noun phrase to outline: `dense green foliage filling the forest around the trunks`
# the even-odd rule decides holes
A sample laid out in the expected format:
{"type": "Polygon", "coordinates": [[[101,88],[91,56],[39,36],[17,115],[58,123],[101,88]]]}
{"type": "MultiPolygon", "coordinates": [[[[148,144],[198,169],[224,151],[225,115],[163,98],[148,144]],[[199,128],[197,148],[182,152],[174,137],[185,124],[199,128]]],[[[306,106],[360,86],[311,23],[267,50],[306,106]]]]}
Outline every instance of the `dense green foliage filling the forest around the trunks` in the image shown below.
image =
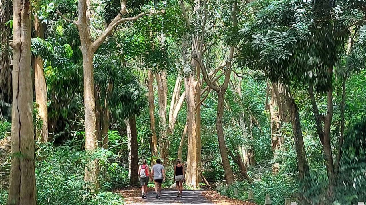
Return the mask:
{"type": "MultiPolygon", "coordinates": [[[[122,15],[121,2],[91,1],[92,41],[116,15],[122,15]]],[[[137,147],[138,163],[147,159],[153,164],[167,145],[163,186],[171,186],[179,152],[183,162],[191,154],[184,130],[190,123],[187,76],[193,71],[198,73],[195,86],[201,86],[194,96],[202,92],[202,153],[197,168],[201,187],[243,201],[252,190],[257,204],[264,204],[266,194],[273,204],[284,204],[284,198],[302,204],[366,201],[365,0],[125,2],[128,12],[123,18],[143,15],[113,28],[91,58],[94,88],[88,91],[95,97],[98,135],[93,152],[86,151],[85,145],[85,104],[90,100],[84,98],[85,54],[78,26],[72,23],[77,20],[78,1],[31,3],[32,19],[40,20],[43,27],[43,37],[37,36],[34,26],[29,32],[32,63],[36,57],[43,63],[49,134],[49,142],[42,142],[40,106],[33,97],[38,204],[123,204],[117,190],[135,186],[130,181],[131,146],[137,147]],[[160,10],[164,12],[153,13],[160,10]],[[232,59],[230,49],[234,49],[232,59]],[[208,78],[218,85],[229,73],[228,89],[214,90],[203,78],[204,69],[213,73],[208,78]],[[219,94],[224,94],[222,122],[216,117],[219,94]],[[171,113],[179,103],[171,126],[171,113]],[[161,123],[164,116],[166,122],[161,123]],[[229,185],[225,185],[218,123],[223,124],[228,169],[235,176],[229,185]],[[304,178],[299,177],[296,126],[309,169],[304,178]],[[132,142],[133,131],[137,144],[132,142]],[[100,186],[89,189],[85,165],[93,160],[100,186]]],[[[0,27],[10,29],[12,20],[7,22],[0,27]]],[[[0,75],[0,85],[5,80],[0,75]]],[[[0,99],[0,204],[6,204],[14,157],[5,139],[11,133],[8,105],[0,99]]]]}

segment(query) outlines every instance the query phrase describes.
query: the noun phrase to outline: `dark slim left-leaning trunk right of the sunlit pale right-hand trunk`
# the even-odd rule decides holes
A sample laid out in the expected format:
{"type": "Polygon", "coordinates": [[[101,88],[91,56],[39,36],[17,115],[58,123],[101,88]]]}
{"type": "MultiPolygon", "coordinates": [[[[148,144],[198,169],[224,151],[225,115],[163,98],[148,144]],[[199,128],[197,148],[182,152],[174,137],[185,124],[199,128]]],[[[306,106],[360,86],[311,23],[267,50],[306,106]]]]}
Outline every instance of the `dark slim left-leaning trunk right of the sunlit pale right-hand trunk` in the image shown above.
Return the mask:
{"type": "Polygon", "coordinates": [[[290,118],[292,124],[292,131],[295,138],[296,156],[298,159],[299,179],[302,181],[305,177],[309,177],[309,165],[307,163],[304,140],[302,137],[299,109],[292,96],[289,96],[290,102],[290,118]]]}

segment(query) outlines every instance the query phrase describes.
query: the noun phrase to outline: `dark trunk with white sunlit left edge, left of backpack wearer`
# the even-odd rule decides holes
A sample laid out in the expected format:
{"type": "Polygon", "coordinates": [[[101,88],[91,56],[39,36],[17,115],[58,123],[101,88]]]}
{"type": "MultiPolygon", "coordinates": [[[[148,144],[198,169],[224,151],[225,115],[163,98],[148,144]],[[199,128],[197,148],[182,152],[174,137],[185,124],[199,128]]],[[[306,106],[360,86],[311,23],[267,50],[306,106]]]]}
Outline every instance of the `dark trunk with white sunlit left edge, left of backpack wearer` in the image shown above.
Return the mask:
{"type": "Polygon", "coordinates": [[[128,176],[130,177],[130,186],[138,185],[138,142],[135,116],[130,116],[126,120],[127,138],[128,138],[128,176]]]}

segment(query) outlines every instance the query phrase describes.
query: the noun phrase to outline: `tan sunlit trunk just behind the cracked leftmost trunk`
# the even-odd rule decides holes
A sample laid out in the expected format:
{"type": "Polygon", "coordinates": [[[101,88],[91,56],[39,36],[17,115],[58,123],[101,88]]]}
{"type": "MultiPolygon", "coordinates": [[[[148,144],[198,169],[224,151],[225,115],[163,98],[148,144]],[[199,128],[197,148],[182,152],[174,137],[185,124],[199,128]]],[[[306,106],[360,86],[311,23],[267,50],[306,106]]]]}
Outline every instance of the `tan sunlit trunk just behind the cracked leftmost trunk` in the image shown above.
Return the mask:
{"type": "MultiPolygon", "coordinates": [[[[42,23],[37,15],[34,15],[34,30],[39,38],[44,38],[44,30],[42,23]]],[[[36,103],[38,105],[38,116],[42,120],[41,140],[48,142],[48,111],[47,111],[47,85],[43,72],[43,60],[40,56],[34,59],[34,74],[36,81],[36,103]]]]}

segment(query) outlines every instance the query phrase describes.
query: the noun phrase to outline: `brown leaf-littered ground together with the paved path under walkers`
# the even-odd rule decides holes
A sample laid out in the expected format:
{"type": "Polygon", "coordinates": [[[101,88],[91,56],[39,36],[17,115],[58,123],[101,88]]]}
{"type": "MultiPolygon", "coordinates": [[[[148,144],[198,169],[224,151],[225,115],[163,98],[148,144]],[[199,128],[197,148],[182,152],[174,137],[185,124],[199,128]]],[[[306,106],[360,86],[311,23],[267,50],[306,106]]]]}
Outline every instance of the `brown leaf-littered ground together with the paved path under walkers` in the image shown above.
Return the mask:
{"type": "Polygon", "coordinates": [[[149,188],[147,198],[141,198],[140,189],[123,190],[120,193],[125,197],[127,205],[255,205],[250,202],[230,199],[221,196],[215,191],[208,190],[184,190],[182,198],[176,198],[175,189],[164,189],[161,191],[161,198],[155,198],[155,191],[149,188]]]}

